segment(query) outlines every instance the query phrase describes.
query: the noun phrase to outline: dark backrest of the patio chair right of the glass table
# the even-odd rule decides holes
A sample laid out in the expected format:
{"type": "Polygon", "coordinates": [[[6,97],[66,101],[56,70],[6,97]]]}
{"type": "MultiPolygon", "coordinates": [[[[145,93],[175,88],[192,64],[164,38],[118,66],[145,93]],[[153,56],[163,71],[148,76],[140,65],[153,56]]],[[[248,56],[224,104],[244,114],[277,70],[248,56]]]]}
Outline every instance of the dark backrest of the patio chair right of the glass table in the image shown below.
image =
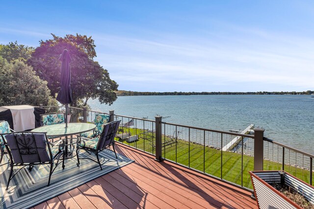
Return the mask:
{"type": "Polygon", "coordinates": [[[118,127],[121,120],[112,121],[106,123],[102,134],[99,136],[96,150],[103,150],[113,143],[114,137],[118,131],[118,127]]]}

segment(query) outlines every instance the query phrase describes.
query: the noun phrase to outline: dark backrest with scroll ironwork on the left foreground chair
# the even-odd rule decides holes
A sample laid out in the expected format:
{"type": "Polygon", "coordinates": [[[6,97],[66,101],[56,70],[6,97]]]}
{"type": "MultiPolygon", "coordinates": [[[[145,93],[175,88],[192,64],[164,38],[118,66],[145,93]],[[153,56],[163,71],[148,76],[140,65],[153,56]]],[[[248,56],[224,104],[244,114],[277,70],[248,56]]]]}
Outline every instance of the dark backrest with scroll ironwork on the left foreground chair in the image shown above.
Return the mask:
{"type": "Polygon", "coordinates": [[[52,152],[45,133],[12,132],[1,137],[12,163],[51,162],[52,152]]]}

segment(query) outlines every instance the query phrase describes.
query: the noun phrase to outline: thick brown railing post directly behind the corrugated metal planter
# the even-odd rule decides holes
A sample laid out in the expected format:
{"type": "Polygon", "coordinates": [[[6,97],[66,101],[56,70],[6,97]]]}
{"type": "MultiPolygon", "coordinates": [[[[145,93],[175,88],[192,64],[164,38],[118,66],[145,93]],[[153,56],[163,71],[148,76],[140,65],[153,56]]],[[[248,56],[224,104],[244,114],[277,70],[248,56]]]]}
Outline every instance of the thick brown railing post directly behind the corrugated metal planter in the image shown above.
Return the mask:
{"type": "Polygon", "coordinates": [[[254,129],[254,170],[263,170],[264,131],[263,128],[254,129]]]}

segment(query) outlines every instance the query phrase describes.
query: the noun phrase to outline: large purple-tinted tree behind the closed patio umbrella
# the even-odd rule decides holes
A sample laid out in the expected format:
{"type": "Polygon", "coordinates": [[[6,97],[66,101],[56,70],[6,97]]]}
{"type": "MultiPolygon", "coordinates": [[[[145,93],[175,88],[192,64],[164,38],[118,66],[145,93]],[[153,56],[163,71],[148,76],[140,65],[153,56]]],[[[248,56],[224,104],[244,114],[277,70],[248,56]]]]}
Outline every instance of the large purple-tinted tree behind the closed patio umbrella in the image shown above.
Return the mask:
{"type": "Polygon", "coordinates": [[[61,62],[58,59],[62,51],[67,49],[72,58],[71,106],[85,106],[89,98],[98,98],[101,103],[112,104],[117,98],[114,91],[118,84],[110,79],[107,70],[93,60],[96,56],[94,40],[78,34],[66,35],[64,38],[52,34],[52,37],[53,39],[41,41],[27,61],[36,74],[48,82],[52,96],[59,92],[60,87],[61,62]]]}

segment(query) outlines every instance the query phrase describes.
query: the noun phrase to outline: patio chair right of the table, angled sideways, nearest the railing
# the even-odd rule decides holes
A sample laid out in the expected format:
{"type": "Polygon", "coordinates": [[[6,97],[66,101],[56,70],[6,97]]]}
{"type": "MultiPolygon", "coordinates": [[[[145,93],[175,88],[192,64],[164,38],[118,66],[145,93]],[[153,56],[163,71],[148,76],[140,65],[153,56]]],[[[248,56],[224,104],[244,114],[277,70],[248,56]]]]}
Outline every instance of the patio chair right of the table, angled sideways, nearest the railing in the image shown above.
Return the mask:
{"type": "Polygon", "coordinates": [[[78,159],[77,165],[79,166],[79,159],[81,160],[86,159],[86,160],[91,160],[91,161],[94,161],[95,163],[98,163],[100,166],[100,169],[103,170],[98,154],[105,149],[109,149],[110,146],[113,147],[113,152],[116,155],[116,158],[118,158],[116,150],[114,148],[114,142],[115,142],[114,137],[116,136],[119,124],[120,124],[120,120],[106,123],[103,129],[103,132],[101,133],[99,137],[96,137],[93,139],[81,137],[80,141],[78,142],[78,147],[77,147],[77,159],[78,159]],[[95,161],[92,158],[79,158],[78,153],[80,149],[87,151],[87,153],[89,154],[94,153],[97,157],[97,161],[95,161]]]}

